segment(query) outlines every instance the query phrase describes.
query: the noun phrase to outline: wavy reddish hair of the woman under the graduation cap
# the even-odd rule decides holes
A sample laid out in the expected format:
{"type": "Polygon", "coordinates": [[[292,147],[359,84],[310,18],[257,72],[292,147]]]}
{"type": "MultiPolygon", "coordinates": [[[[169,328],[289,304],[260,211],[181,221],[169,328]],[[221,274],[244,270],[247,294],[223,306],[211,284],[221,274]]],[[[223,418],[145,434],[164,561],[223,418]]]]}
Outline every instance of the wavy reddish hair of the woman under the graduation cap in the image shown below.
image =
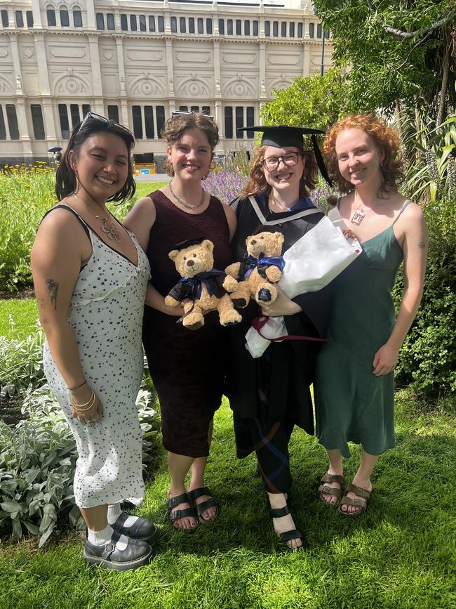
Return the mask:
{"type": "MultiPolygon", "coordinates": [[[[250,162],[250,173],[246,186],[241,190],[241,197],[252,197],[253,195],[264,195],[269,197],[272,188],[264,177],[262,161],[267,146],[260,146],[250,162]]],[[[314,190],[316,185],[317,165],[314,152],[311,150],[298,149],[304,155],[304,171],[300,180],[300,197],[309,197],[309,191],[314,190]]]]}

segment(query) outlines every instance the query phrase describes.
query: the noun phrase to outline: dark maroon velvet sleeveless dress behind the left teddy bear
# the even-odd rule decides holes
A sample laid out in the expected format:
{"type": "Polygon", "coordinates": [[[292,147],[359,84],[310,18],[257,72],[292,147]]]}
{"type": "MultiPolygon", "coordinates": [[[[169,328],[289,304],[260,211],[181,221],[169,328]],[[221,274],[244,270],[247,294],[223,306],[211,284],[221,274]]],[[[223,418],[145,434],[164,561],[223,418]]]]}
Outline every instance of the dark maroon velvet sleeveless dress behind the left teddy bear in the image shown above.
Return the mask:
{"type": "MultiPolygon", "coordinates": [[[[156,221],[147,247],[152,285],[166,296],[180,280],[168,253],[181,241],[205,237],[214,244],[214,266],[231,263],[229,226],[222,203],[210,197],[201,214],[188,214],[163,192],[149,195],[155,204],[156,221]]],[[[142,326],[149,371],[159,396],[161,429],[166,450],[188,457],[209,454],[208,427],[220,407],[226,371],[228,333],[217,311],[204,316],[204,325],[189,330],[178,317],[145,307],[142,326]]]]}

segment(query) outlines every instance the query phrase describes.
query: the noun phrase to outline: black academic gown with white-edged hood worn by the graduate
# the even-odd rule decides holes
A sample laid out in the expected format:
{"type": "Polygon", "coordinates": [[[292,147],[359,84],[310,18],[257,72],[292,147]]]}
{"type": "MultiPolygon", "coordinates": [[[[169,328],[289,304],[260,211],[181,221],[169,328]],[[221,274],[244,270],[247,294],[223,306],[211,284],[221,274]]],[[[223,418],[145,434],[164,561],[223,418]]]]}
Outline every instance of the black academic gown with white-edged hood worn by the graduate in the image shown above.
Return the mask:
{"type": "MultiPolygon", "coordinates": [[[[232,240],[233,259],[241,260],[246,252],[246,237],[259,225],[280,225],[285,235],[286,251],[311,230],[324,214],[316,207],[297,212],[275,214],[260,197],[236,199],[237,228],[232,240]]],[[[331,308],[331,285],[296,296],[293,301],[302,313],[284,317],[288,334],[325,338],[331,308]]],[[[240,310],[243,320],[230,329],[231,368],[226,393],[232,410],[243,418],[260,418],[273,424],[290,421],[314,433],[314,416],[309,386],[314,381],[316,353],[321,343],[281,341],[270,343],[261,358],[252,358],[245,347],[245,336],[260,308],[251,300],[240,310]],[[266,399],[264,399],[266,396],[266,399]]]]}

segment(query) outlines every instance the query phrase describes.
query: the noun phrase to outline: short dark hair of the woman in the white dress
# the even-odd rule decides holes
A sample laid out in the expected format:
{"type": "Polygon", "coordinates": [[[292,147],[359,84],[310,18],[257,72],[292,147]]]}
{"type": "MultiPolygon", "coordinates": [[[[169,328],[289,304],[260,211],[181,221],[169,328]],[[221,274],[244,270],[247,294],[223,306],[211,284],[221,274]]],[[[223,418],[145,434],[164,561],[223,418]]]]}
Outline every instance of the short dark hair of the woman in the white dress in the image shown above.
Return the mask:
{"type": "Polygon", "coordinates": [[[77,158],[81,145],[87,138],[93,136],[94,133],[112,133],[125,142],[128,150],[128,176],[126,182],[120,190],[107,200],[124,201],[125,199],[130,199],[135,194],[136,184],[133,177],[133,160],[131,158],[131,151],[135,145],[133,133],[130,133],[126,127],[114,121],[107,120],[104,122],[95,117],[90,117],[83,124],[81,122],[74,127],[72,135],[69,138],[67,150],[65,150],[65,155],[63,155],[62,161],[55,173],[55,194],[59,201],[72,195],[78,185],[76,172],[69,162],[69,153],[73,151],[74,156],[77,158]]]}

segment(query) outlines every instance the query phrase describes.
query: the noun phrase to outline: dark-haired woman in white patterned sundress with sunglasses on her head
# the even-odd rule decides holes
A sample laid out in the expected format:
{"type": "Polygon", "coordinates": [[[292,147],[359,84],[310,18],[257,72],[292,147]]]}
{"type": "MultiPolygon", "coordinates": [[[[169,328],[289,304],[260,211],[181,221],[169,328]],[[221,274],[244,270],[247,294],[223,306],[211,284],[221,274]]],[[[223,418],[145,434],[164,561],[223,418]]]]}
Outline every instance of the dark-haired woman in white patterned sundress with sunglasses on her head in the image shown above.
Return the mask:
{"type": "Polygon", "coordinates": [[[142,433],[135,398],[142,377],[141,322],[150,268],[107,201],[135,192],[125,127],[88,112],[58,167],[60,203],[32,248],[43,362],[78,451],[74,498],[88,527],[83,556],[115,570],[149,560],[158,532],[121,511],[139,504],[142,433]]]}

